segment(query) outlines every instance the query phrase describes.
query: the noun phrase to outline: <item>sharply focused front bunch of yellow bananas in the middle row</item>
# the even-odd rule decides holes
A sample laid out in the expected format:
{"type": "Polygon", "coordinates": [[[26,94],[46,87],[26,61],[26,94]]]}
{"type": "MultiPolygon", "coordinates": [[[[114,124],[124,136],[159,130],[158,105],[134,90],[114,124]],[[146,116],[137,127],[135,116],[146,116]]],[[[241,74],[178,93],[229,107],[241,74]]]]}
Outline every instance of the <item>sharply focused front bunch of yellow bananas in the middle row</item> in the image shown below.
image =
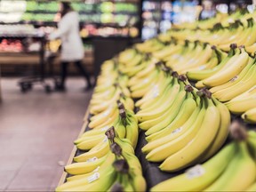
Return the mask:
{"type": "MultiPolygon", "coordinates": [[[[192,87],[187,85],[186,88],[192,87]]],[[[183,89],[184,87],[179,94],[181,92],[186,94],[183,89]]],[[[142,151],[148,154],[146,156],[148,161],[163,162],[159,168],[165,172],[180,171],[212,157],[228,137],[230,124],[228,108],[211,98],[210,92],[206,89],[197,92],[201,97],[196,99],[193,99],[191,92],[187,94],[180,103],[180,111],[176,109],[176,111],[171,110],[172,113],[169,112],[168,117],[171,117],[169,124],[151,135],[149,135],[151,132],[148,132],[150,129],[146,132],[146,135],[149,135],[148,144],[142,148],[142,151]],[[181,116],[187,111],[186,117],[181,116]],[[172,118],[172,114],[176,116],[172,118]]],[[[176,99],[178,98],[179,96],[176,99]]],[[[178,103],[176,99],[175,104],[178,103]]]]}

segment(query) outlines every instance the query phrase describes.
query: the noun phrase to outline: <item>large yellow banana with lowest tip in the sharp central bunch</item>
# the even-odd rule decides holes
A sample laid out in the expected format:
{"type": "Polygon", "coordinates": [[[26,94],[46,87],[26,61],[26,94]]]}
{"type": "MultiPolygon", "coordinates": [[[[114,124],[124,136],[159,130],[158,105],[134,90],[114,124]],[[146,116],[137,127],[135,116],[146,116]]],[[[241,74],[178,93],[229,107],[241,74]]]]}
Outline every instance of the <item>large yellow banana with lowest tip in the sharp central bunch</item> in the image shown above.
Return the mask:
{"type": "Polygon", "coordinates": [[[208,107],[196,137],[190,140],[180,151],[166,158],[164,163],[159,166],[162,171],[175,172],[195,164],[196,159],[211,145],[219,130],[220,111],[213,105],[211,99],[206,100],[208,107]]]}

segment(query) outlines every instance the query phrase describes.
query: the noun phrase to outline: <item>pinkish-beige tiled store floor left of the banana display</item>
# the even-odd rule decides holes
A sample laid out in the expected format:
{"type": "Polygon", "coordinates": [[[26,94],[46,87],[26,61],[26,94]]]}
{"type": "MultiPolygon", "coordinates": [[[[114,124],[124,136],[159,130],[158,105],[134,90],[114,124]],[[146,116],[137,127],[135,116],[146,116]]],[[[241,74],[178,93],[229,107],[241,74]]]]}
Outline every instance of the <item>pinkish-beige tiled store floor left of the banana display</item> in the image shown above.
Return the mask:
{"type": "Polygon", "coordinates": [[[40,86],[20,92],[18,79],[2,78],[0,191],[52,191],[82,127],[92,92],[69,78],[68,91],[46,94],[40,86]]]}

